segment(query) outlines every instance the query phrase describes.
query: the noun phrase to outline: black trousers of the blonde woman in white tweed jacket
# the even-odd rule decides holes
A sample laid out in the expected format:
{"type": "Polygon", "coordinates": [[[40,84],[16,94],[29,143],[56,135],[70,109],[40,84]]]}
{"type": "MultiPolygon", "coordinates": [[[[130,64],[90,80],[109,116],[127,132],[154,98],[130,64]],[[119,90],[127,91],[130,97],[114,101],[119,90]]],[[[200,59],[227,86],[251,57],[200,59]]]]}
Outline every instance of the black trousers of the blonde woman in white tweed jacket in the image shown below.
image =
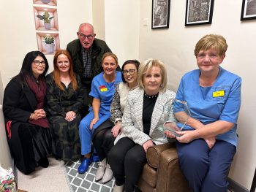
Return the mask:
{"type": "Polygon", "coordinates": [[[108,153],[108,162],[116,178],[116,185],[124,184],[124,191],[132,192],[146,164],[146,153],[141,145],[124,137],[108,153]]]}

